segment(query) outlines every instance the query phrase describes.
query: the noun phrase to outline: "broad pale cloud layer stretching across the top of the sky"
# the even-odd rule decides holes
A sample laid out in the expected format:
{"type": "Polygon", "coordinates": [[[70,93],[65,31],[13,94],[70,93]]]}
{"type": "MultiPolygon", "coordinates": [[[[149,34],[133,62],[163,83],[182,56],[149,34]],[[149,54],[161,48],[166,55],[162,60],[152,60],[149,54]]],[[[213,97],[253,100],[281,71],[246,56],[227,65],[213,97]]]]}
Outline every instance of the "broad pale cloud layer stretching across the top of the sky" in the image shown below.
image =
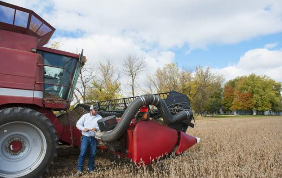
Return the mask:
{"type": "Polygon", "coordinates": [[[6,1],[32,7],[57,30],[129,37],[146,49],[204,48],[282,31],[282,0],[6,1]]]}

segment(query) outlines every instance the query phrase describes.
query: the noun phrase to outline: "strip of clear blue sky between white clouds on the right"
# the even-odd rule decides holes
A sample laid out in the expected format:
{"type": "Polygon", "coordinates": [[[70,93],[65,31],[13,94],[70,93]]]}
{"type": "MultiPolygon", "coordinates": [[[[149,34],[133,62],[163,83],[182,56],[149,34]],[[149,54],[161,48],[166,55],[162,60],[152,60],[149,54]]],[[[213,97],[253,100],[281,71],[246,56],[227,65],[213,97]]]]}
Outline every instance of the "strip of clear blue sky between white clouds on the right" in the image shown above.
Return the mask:
{"type": "Polygon", "coordinates": [[[180,67],[201,65],[222,68],[238,63],[240,57],[249,50],[264,48],[264,45],[270,43],[278,43],[272,50],[282,49],[282,32],[257,36],[235,44],[212,44],[206,49],[192,50],[187,55],[185,48],[173,51],[180,67]]]}

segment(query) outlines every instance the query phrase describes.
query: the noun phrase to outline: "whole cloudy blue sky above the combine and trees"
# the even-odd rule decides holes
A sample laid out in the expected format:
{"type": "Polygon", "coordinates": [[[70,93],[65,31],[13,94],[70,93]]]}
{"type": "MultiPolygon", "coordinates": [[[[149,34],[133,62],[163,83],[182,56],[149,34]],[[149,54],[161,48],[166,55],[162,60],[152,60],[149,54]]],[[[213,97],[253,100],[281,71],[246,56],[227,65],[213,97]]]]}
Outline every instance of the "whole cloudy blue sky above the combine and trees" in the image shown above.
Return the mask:
{"type": "MultiPolygon", "coordinates": [[[[3,0],[32,9],[56,28],[61,49],[84,48],[122,70],[128,54],[147,70],[177,62],[211,67],[228,81],[255,73],[282,82],[282,0],[3,0]]],[[[126,78],[122,83],[126,85],[126,78]]]]}

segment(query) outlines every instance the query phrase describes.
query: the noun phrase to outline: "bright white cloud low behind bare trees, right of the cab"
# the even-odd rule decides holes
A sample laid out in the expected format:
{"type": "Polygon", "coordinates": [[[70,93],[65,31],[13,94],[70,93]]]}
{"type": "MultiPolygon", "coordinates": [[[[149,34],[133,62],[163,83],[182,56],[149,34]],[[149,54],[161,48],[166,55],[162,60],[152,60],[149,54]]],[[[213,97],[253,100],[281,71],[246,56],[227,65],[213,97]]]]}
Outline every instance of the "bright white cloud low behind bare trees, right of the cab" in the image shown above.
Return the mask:
{"type": "MultiPolygon", "coordinates": [[[[137,84],[144,86],[147,75],[155,73],[158,67],[174,61],[174,53],[171,51],[151,50],[144,51],[130,38],[112,37],[109,35],[86,35],[80,38],[55,38],[52,41],[63,43],[61,50],[72,53],[80,53],[84,48],[84,56],[87,57],[87,65],[97,67],[99,61],[110,58],[113,64],[122,72],[123,61],[128,54],[136,54],[144,57],[147,69],[138,78],[137,84]]],[[[51,41],[51,42],[52,42],[51,41]]],[[[123,94],[129,93],[127,78],[121,78],[123,94]]]]}

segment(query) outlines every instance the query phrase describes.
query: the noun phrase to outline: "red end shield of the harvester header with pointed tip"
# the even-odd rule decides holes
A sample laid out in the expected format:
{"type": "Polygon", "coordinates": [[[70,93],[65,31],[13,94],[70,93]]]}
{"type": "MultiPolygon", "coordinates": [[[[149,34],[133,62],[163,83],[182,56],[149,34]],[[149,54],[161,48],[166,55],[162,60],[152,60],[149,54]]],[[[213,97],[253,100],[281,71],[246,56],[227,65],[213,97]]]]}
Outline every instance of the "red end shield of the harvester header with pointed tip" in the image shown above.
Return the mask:
{"type": "MultiPolygon", "coordinates": [[[[121,156],[132,159],[142,165],[151,164],[165,155],[176,150],[176,154],[183,153],[197,143],[197,139],[184,132],[161,125],[151,120],[132,120],[125,133],[126,154],[117,151],[121,156]]],[[[101,149],[107,149],[98,144],[101,149]]]]}

